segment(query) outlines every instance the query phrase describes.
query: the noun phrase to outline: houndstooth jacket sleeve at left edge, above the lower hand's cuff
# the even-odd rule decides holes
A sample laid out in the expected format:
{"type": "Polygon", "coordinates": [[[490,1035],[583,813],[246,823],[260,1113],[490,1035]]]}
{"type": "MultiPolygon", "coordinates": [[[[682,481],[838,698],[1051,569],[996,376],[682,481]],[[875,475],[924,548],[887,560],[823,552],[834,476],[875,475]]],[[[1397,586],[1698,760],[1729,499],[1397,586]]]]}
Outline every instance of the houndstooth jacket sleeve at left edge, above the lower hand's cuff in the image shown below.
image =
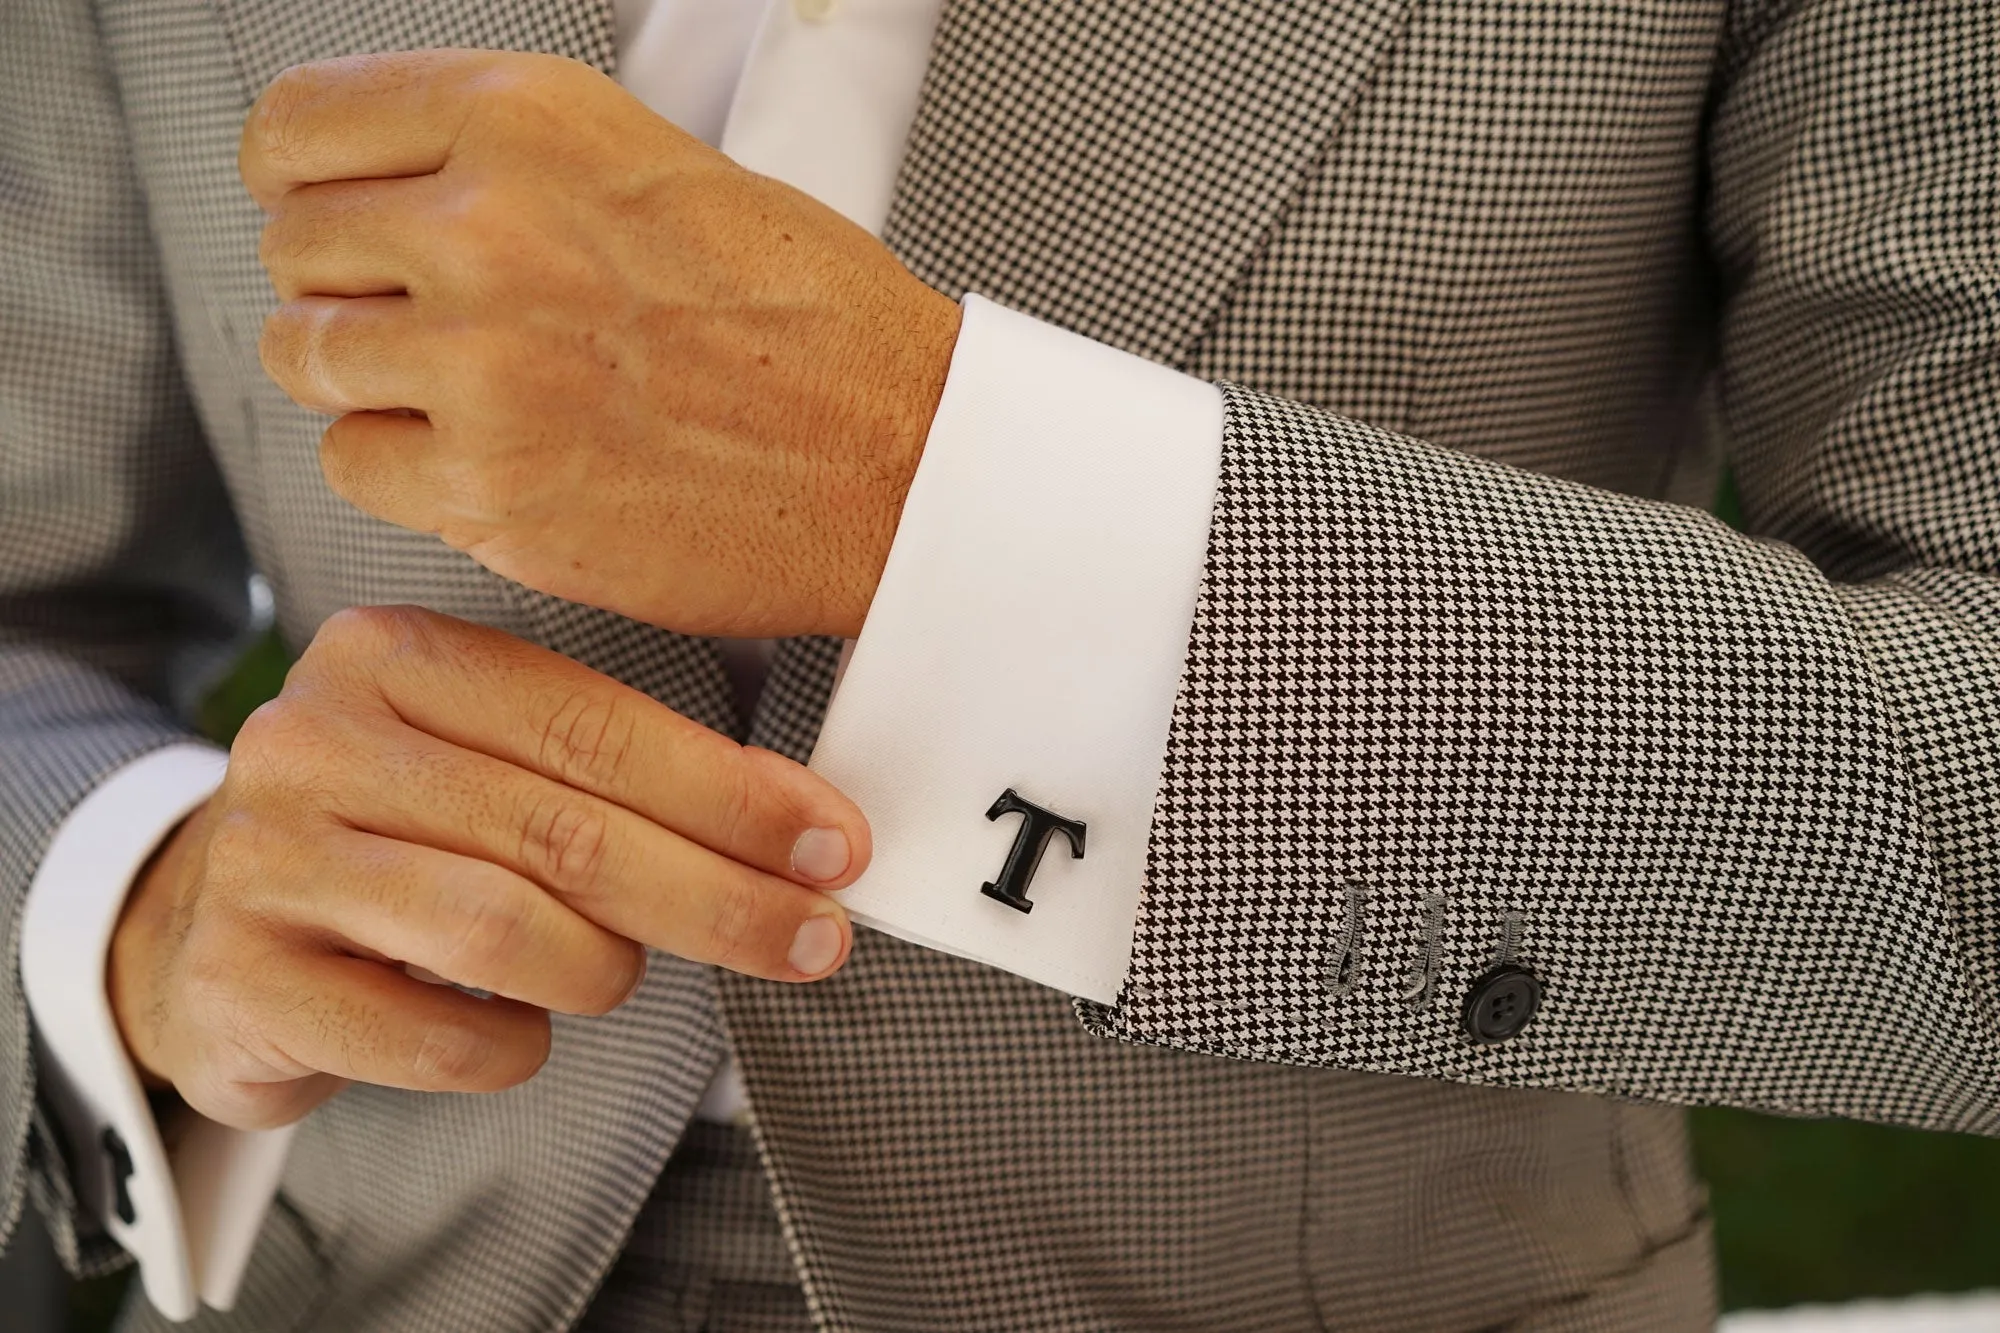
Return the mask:
{"type": "Polygon", "coordinates": [[[80,4],[10,12],[0,42],[0,1235],[34,1191],[86,1271],[118,1251],[80,1235],[36,1109],[20,911],[62,817],[186,739],[176,701],[248,620],[98,52],[80,4]]]}

